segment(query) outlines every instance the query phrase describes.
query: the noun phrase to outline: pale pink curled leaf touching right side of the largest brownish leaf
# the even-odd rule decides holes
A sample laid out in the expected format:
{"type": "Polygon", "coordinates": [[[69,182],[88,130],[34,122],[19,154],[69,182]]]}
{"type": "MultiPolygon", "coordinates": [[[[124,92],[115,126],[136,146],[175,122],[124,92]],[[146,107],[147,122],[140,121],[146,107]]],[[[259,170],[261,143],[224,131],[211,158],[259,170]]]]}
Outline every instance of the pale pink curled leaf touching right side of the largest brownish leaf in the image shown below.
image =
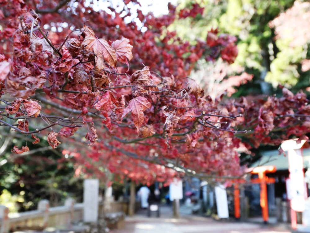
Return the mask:
{"type": "Polygon", "coordinates": [[[112,48],[115,49],[118,61],[129,65],[128,61],[132,59],[132,45],[129,43],[129,39],[122,37],[120,40],[115,40],[112,43],[112,48]]]}

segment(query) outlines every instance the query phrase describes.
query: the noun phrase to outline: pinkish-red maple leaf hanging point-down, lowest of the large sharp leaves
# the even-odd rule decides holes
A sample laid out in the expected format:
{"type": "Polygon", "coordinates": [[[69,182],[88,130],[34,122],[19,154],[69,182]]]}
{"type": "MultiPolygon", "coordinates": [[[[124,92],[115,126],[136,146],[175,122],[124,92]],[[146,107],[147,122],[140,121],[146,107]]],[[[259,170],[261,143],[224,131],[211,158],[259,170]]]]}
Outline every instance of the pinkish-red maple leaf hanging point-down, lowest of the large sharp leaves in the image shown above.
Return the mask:
{"type": "Polygon", "coordinates": [[[131,112],[132,117],[134,118],[134,124],[138,130],[144,123],[144,110],[151,107],[152,104],[148,102],[143,96],[138,96],[129,101],[128,106],[124,109],[122,118],[123,119],[129,112],[131,112]]]}

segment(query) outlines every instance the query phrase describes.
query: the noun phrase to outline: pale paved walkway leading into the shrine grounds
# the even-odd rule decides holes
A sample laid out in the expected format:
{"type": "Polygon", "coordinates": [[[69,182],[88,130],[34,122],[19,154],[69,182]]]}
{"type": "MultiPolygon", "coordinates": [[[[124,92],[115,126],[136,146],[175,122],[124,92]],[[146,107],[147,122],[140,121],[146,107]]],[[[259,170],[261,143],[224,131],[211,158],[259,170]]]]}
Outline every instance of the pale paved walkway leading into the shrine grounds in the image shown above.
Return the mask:
{"type": "Polygon", "coordinates": [[[161,217],[155,214],[148,218],[146,210],[134,217],[127,217],[123,229],[111,233],[289,233],[284,226],[272,227],[261,224],[215,221],[211,218],[197,217],[181,212],[181,218],[172,216],[172,207],[162,207],[161,217]]]}

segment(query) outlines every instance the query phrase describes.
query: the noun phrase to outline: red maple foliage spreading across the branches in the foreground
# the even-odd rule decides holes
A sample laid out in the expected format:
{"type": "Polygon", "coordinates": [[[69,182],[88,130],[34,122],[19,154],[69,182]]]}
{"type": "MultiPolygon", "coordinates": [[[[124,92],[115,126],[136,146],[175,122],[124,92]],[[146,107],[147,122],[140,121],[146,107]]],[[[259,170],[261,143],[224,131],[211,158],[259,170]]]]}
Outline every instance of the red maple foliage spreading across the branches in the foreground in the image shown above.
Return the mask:
{"type": "MultiPolygon", "coordinates": [[[[172,5],[161,17],[138,12],[143,32],[134,21],[125,20],[131,15],[128,5],[124,13],[109,14],[94,11],[83,1],[58,4],[0,3],[0,94],[7,98],[7,114],[0,120],[32,135],[21,123],[16,128],[6,119],[27,115],[33,126],[45,118],[51,126],[61,126],[59,133],[48,134],[47,141],[56,148],[59,134],[67,143],[64,148],[83,164],[79,171],[102,175],[105,167],[120,179],[148,184],[175,176],[170,168],[204,179],[234,178],[243,172],[236,149],[249,149],[248,141],[252,146],[279,144],[309,132],[303,93],[283,89],[281,98],[251,103],[246,98],[212,99],[187,78],[198,59],[222,57],[232,63],[237,56],[235,37],[211,30],[206,41],[190,45],[165,30],[177,17],[172,5]],[[90,128],[87,133],[77,131],[85,125],[90,128]],[[273,131],[281,135],[274,136],[273,131]],[[246,144],[237,138],[238,132],[248,138],[246,144]],[[85,147],[87,143],[93,147],[85,147]]],[[[179,16],[202,12],[194,4],[179,16]]],[[[47,128],[37,132],[47,134],[47,128]]],[[[12,152],[27,148],[14,147],[12,152]]]]}

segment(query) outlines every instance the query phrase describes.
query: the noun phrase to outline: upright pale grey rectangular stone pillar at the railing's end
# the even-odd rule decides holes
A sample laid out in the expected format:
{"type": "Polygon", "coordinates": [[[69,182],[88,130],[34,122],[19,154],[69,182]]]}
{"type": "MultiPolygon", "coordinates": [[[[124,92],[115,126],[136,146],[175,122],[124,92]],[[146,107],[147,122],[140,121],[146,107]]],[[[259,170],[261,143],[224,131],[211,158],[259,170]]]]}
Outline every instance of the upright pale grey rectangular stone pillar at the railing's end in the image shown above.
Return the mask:
{"type": "Polygon", "coordinates": [[[84,222],[97,222],[99,211],[99,180],[86,179],[84,180],[83,194],[84,222]]]}

